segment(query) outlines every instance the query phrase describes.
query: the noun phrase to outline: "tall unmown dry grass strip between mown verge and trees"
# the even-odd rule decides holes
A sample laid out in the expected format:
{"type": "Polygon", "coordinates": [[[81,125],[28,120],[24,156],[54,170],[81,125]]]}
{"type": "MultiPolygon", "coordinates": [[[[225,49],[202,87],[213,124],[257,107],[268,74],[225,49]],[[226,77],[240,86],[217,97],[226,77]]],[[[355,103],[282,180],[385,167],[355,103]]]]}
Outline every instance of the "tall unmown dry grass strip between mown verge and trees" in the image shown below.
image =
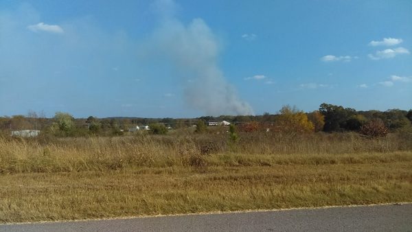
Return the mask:
{"type": "Polygon", "coordinates": [[[240,140],[236,142],[229,140],[225,133],[47,140],[0,137],[0,173],[79,172],[118,170],[124,167],[202,167],[233,163],[247,165],[260,161],[261,165],[273,165],[284,162],[273,161],[273,157],[280,154],[290,155],[290,159],[317,155],[316,159],[322,163],[339,162],[333,161],[334,154],[347,154],[355,159],[356,154],[368,152],[385,154],[411,150],[412,139],[396,134],[367,139],[356,133],[244,133],[240,134],[240,140]],[[321,161],[325,156],[329,157],[328,161],[321,161]]]}

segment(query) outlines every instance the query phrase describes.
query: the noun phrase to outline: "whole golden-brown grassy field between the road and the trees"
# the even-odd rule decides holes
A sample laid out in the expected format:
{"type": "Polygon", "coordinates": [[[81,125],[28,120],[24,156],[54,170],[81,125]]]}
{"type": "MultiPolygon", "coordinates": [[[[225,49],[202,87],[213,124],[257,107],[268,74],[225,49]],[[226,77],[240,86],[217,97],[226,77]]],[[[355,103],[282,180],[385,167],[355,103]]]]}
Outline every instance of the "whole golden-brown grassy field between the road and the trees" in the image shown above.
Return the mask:
{"type": "Polygon", "coordinates": [[[412,202],[408,137],[0,139],[0,222],[412,202]]]}

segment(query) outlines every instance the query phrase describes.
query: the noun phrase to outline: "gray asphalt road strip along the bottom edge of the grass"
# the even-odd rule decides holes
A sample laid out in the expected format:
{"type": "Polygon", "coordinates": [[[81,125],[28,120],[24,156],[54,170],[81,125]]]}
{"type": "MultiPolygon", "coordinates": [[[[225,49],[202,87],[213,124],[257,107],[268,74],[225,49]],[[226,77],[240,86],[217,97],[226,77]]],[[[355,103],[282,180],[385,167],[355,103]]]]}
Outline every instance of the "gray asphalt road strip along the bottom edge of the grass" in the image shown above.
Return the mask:
{"type": "Polygon", "coordinates": [[[412,231],[412,204],[5,224],[0,231],[412,231]]]}

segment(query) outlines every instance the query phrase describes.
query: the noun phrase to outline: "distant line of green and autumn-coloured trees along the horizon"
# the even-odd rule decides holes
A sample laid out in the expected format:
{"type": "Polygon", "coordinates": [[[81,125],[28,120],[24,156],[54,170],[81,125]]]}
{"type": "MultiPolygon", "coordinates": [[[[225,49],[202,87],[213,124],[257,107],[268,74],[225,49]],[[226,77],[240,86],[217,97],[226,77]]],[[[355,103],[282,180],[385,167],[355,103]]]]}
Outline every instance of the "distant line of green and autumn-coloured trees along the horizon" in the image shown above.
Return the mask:
{"type": "MultiPolygon", "coordinates": [[[[258,130],[294,131],[294,132],[345,132],[361,131],[369,125],[369,130],[396,132],[412,131],[412,110],[389,109],[387,111],[356,111],[354,108],[344,108],[323,103],[319,110],[304,113],[292,106],[283,106],[276,114],[263,115],[221,115],[219,117],[204,116],[198,118],[173,119],[141,118],[141,117],[107,117],[99,119],[74,118],[69,113],[57,112],[54,117],[47,118],[44,113],[30,111],[27,115],[0,117],[0,130],[42,130],[59,137],[87,135],[123,135],[130,128],[139,125],[150,125],[153,131],[167,132],[166,128],[188,128],[194,125],[207,125],[209,121],[230,121],[238,130],[252,132],[258,130]],[[201,122],[201,124],[199,124],[201,122]],[[371,129],[374,124],[375,129],[371,129]]],[[[366,130],[366,129],[365,129],[366,130]]],[[[196,130],[205,131],[205,130],[196,130]]]]}

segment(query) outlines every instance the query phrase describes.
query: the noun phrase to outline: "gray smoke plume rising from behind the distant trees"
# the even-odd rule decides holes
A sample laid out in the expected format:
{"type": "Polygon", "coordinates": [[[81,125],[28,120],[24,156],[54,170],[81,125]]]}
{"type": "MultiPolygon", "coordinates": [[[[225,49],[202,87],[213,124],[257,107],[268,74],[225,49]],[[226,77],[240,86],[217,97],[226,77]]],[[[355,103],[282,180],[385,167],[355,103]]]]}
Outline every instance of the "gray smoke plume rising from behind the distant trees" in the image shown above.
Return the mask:
{"type": "Polygon", "coordinates": [[[219,69],[218,40],[206,23],[194,19],[184,25],[171,13],[170,9],[176,8],[173,1],[156,5],[161,23],[148,47],[170,60],[183,76],[187,104],[207,115],[253,115],[251,106],[239,99],[219,69]]]}

